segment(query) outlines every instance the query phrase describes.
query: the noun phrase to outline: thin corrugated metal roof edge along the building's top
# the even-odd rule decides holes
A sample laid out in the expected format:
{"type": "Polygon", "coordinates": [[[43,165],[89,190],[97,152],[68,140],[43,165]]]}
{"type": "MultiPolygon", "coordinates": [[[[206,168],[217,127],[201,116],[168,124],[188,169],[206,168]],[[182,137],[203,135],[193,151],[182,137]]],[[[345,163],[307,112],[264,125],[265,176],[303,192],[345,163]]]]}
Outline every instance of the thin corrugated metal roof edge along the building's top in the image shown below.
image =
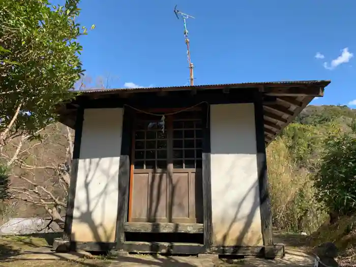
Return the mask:
{"type": "Polygon", "coordinates": [[[283,85],[299,85],[299,84],[317,84],[320,83],[322,85],[328,85],[331,81],[330,80],[304,80],[304,81],[270,81],[270,82],[242,82],[242,83],[221,83],[221,84],[203,84],[203,85],[183,85],[183,86],[160,86],[160,87],[137,87],[137,88],[112,88],[112,89],[101,89],[101,88],[94,88],[91,90],[82,90],[82,93],[98,93],[98,92],[112,92],[112,91],[134,91],[134,90],[159,90],[159,89],[169,89],[169,88],[187,88],[187,89],[194,89],[194,88],[214,88],[214,87],[239,87],[243,85],[275,85],[275,84],[283,84],[283,85]]]}

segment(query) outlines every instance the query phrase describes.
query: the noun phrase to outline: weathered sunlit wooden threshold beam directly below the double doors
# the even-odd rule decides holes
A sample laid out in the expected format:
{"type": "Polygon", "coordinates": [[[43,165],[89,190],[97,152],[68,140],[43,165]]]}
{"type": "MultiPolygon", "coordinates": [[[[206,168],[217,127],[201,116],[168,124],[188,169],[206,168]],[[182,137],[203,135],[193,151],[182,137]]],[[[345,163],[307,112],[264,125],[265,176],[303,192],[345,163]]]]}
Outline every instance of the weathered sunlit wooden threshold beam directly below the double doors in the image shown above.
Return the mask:
{"type": "Polygon", "coordinates": [[[203,233],[202,223],[147,223],[126,222],[125,232],[145,233],[203,233]]]}

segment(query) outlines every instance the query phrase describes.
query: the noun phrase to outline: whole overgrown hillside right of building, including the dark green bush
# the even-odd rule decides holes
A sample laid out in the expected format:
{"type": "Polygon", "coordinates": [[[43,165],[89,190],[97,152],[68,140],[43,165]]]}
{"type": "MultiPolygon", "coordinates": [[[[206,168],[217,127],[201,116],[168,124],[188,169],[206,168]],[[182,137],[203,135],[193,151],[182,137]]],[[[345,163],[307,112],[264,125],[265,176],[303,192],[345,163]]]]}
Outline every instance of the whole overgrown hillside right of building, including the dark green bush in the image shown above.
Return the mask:
{"type": "Polygon", "coordinates": [[[356,245],[355,118],[347,106],[308,106],[267,148],[275,229],[307,232],[310,246],[334,242],[348,264],[356,245]]]}

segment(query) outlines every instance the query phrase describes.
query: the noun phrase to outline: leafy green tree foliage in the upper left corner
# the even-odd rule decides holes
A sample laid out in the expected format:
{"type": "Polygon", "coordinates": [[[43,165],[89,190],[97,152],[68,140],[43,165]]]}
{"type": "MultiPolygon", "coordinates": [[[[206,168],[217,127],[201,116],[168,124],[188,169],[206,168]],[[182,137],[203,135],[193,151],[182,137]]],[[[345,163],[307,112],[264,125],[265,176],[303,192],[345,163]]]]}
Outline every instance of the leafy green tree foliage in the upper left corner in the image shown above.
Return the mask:
{"type": "Polygon", "coordinates": [[[35,136],[53,121],[54,105],[74,96],[84,71],[76,40],[86,34],[75,22],[78,3],[0,1],[0,148],[9,138],[35,136]]]}

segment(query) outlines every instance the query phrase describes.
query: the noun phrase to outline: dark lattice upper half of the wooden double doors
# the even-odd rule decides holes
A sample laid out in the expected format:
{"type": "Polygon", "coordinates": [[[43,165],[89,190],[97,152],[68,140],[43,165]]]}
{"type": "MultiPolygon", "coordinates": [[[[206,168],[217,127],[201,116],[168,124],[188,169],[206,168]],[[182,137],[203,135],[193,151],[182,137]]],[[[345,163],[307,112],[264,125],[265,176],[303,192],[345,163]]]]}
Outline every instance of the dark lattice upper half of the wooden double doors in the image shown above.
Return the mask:
{"type": "Polygon", "coordinates": [[[135,126],[135,169],[201,168],[201,112],[182,112],[167,116],[140,114],[135,126]],[[164,126],[164,131],[162,128],[164,126]]]}

